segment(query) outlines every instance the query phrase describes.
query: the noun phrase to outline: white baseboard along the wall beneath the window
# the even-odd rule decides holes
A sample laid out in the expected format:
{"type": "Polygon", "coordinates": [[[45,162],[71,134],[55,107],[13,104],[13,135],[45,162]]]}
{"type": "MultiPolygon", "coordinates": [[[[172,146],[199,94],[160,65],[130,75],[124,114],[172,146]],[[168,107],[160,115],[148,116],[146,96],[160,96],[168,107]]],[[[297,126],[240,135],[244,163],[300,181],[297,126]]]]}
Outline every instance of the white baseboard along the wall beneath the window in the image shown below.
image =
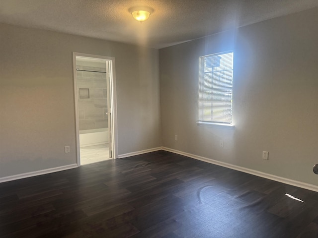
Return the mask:
{"type": "Polygon", "coordinates": [[[186,153],[186,152],[182,152],[182,151],[178,151],[178,150],[174,150],[174,149],[170,149],[170,148],[166,148],[166,147],[162,147],[162,150],[169,151],[169,152],[172,152],[172,153],[175,153],[175,154],[179,154],[179,155],[184,155],[184,156],[187,156],[187,157],[190,157],[190,158],[193,158],[193,159],[196,159],[196,160],[201,160],[201,161],[204,161],[204,162],[207,162],[207,163],[210,163],[210,164],[215,164],[215,165],[223,166],[223,167],[226,167],[226,168],[229,168],[229,169],[241,171],[241,172],[244,172],[244,173],[247,173],[247,174],[256,175],[258,177],[262,177],[262,178],[265,178],[265,179],[271,179],[271,180],[274,180],[274,181],[278,181],[278,182],[282,182],[282,183],[286,183],[286,184],[289,184],[289,185],[302,187],[302,188],[305,188],[305,189],[308,189],[308,190],[312,190],[312,191],[318,192],[318,186],[314,185],[314,184],[310,184],[310,183],[306,183],[306,182],[300,182],[300,181],[293,180],[293,179],[286,179],[286,178],[279,177],[279,176],[276,176],[276,175],[266,174],[266,173],[263,173],[263,172],[260,172],[260,171],[257,171],[257,170],[247,169],[247,168],[240,167],[240,166],[237,166],[237,165],[232,165],[232,164],[229,164],[229,163],[225,163],[225,162],[221,162],[221,161],[205,158],[205,157],[198,156],[198,155],[189,154],[189,153],[186,153]]]}

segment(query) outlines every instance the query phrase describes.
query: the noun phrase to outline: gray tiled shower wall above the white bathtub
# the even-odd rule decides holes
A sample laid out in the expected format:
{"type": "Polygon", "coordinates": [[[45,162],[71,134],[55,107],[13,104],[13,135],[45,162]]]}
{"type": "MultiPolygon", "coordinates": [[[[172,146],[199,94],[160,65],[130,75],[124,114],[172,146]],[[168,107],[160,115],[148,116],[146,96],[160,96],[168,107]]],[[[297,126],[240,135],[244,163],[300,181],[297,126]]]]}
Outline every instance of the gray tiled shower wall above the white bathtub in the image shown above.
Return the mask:
{"type": "MultiPolygon", "coordinates": [[[[105,68],[77,66],[80,70],[105,71],[105,68]]],[[[77,71],[79,88],[89,89],[89,98],[79,98],[79,130],[108,127],[106,73],[77,71]]],[[[79,94],[78,94],[79,95],[79,94]]]]}

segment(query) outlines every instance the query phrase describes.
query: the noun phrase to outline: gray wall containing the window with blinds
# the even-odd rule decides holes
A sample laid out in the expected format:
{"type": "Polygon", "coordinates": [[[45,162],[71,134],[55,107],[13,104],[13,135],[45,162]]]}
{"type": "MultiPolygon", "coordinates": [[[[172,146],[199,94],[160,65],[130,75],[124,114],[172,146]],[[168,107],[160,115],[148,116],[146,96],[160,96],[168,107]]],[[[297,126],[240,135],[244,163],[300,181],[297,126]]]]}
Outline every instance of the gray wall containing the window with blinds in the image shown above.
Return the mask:
{"type": "Polygon", "coordinates": [[[318,185],[317,16],[313,8],[159,50],[163,146],[318,185]],[[231,49],[235,127],[198,126],[198,58],[231,49]]]}

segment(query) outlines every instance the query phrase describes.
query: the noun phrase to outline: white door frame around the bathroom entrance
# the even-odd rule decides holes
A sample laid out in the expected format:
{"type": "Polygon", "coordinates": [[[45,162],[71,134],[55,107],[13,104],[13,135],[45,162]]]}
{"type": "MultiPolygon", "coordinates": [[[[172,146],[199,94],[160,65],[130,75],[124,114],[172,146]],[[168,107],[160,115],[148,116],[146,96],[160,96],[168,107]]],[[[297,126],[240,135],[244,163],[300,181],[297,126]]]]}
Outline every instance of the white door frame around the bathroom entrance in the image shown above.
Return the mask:
{"type": "MultiPolygon", "coordinates": [[[[106,56],[97,56],[90,54],[83,54],[73,52],[73,80],[74,80],[74,99],[75,99],[75,121],[76,121],[76,154],[77,154],[77,164],[80,166],[80,153],[79,153],[79,105],[78,105],[78,90],[77,90],[77,80],[76,80],[76,57],[86,57],[94,58],[99,60],[106,60],[109,66],[109,83],[110,83],[110,116],[111,116],[111,128],[112,128],[112,151],[113,159],[118,158],[118,147],[117,147],[117,96],[116,96],[116,75],[115,75],[115,58],[106,56]]],[[[110,133],[110,132],[108,132],[110,133]]]]}

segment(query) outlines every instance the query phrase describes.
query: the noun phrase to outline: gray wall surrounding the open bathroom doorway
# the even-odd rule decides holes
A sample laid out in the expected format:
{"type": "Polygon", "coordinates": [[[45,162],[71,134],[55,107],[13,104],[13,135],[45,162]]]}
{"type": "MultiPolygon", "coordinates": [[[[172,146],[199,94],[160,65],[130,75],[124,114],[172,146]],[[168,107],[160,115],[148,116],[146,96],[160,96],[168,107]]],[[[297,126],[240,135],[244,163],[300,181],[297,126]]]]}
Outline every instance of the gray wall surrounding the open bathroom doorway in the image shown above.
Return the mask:
{"type": "Polygon", "coordinates": [[[76,163],[73,52],[115,57],[118,154],[161,145],[158,50],[7,24],[0,31],[0,178],[76,163]]]}

